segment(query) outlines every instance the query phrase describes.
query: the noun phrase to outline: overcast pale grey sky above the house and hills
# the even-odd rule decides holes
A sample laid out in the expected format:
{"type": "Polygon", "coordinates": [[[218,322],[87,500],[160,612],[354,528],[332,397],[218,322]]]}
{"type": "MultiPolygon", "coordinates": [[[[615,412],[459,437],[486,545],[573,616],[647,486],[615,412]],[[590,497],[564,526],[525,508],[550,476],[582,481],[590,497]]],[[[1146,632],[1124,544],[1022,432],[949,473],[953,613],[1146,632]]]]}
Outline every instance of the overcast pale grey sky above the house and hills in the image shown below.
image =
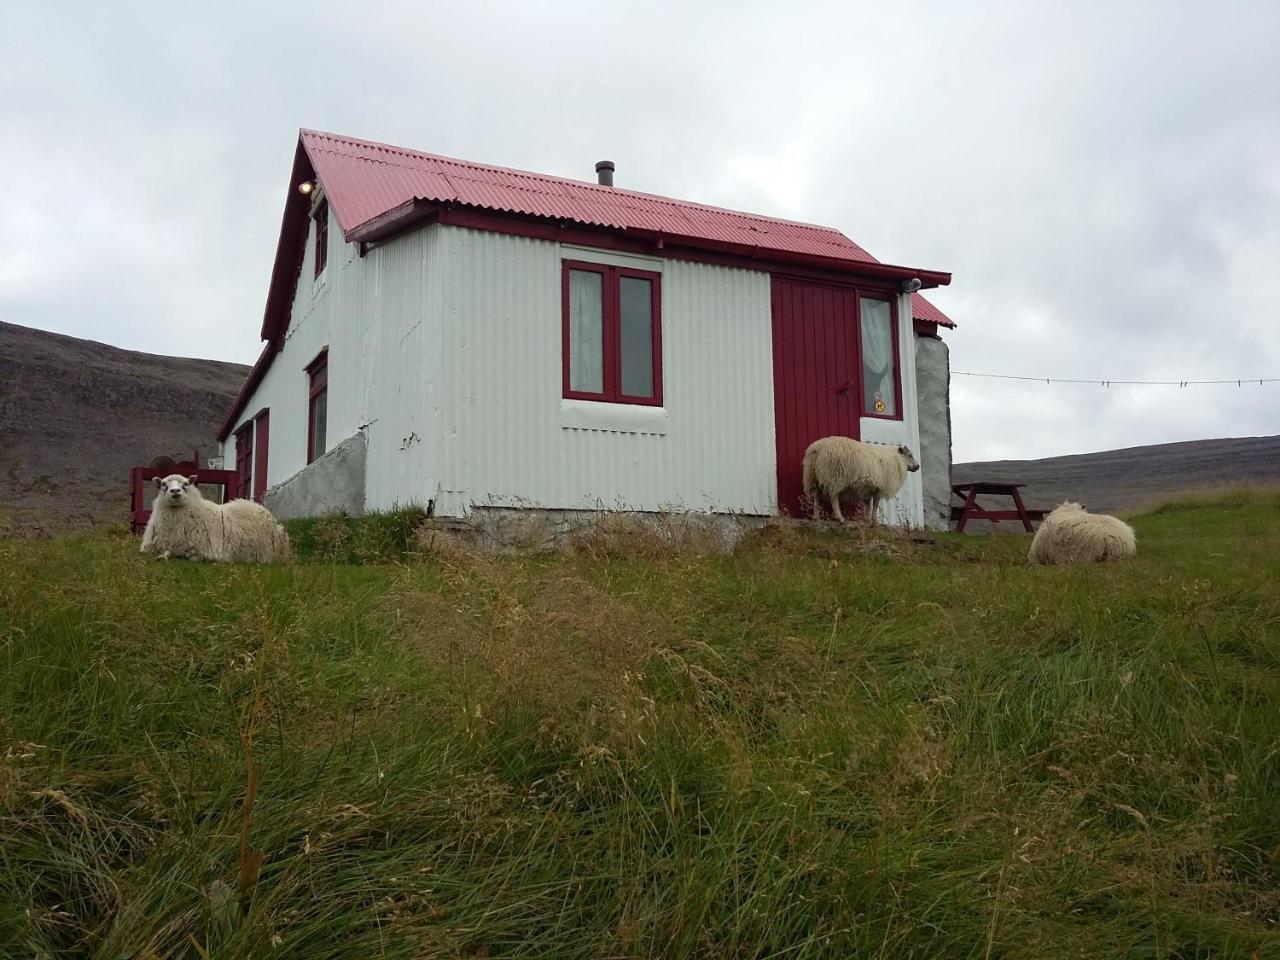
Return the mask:
{"type": "MultiPolygon", "coordinates": [[[[1280,376],[1280,3],[5,3],[0,319],[252,362],[298,127],[828,224],[954,370],[1280,376]]],[[[1280,384],[952,380],[957,461],[1280,433],[1280,384]]]]}

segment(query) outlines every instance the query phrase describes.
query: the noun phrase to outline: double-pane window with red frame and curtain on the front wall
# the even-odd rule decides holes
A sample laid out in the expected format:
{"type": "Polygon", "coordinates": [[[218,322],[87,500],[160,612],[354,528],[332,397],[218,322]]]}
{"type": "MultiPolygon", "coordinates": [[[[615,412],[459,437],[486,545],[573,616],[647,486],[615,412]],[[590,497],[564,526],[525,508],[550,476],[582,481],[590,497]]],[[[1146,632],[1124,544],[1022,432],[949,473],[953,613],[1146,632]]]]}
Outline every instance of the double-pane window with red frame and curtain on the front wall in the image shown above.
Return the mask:
{"type": "Polygon", "coordinates": [[[564,396],[662,406],[662,275],[566,260],[564,396]]]}

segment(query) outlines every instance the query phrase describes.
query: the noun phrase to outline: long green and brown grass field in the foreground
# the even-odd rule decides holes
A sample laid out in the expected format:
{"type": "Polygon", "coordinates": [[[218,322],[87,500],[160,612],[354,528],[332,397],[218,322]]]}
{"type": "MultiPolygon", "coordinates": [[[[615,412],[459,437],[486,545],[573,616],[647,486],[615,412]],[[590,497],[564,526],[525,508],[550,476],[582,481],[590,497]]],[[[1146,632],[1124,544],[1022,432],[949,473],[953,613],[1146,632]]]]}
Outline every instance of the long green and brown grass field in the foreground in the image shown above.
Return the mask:
{"type": "Polygon", "coordinates": [[[1087,568],[370,522],[0,541],[0,956],[1280,956],[1280,494],[1087,568]]]}

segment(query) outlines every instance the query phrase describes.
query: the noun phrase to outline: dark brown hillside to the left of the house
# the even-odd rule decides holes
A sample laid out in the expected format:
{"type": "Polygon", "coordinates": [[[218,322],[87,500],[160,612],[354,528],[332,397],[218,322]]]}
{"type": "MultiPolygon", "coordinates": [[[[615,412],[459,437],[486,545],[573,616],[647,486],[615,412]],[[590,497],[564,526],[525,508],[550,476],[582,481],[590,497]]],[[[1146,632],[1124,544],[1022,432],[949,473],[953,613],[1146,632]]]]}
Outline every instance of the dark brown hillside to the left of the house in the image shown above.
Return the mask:
{"type": "Polygon", "coordinates": [[[211,456],[247,372],[0,323],[0,531],[123,524],[129,468],[211,456]]]}

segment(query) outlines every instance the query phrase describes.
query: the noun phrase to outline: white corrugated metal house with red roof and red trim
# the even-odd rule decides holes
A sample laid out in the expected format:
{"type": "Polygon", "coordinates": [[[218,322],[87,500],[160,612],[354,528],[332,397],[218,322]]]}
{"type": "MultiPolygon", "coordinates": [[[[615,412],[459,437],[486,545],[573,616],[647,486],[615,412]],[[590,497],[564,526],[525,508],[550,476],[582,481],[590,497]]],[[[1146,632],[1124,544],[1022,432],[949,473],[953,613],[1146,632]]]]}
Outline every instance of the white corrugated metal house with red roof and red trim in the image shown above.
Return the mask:
{"type": "Polygon", "coordinates": [[[220,430],[243,489],[283,516],[774,515],[805,447],[845,434],[909,444],[923,470],[888,518],[945,525],[952,324],[914,291],[950,274],[618,189],[612,166],[584,183],[302,131],[265,346],[220,430]]]}

